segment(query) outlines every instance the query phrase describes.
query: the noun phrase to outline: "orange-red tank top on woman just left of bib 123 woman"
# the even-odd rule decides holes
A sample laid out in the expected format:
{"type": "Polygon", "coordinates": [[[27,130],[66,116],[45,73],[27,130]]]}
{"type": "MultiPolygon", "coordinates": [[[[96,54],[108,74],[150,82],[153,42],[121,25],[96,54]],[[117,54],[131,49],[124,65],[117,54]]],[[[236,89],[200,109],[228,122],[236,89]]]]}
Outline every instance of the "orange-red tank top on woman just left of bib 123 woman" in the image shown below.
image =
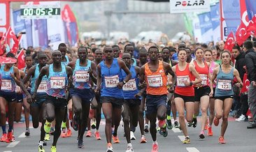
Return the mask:
{"type": "Polygon", "coordinates": [[[200,66],[198,66],[197,61],[194,61],[194,68],[197,70],[197,73],[199,73],[199,76],[201,77],[201,85],[209,86],[209,82],[208,82],[209,69],[208,69],[207,63],[204,62],[204,68],[201,68],[200,66]]]}

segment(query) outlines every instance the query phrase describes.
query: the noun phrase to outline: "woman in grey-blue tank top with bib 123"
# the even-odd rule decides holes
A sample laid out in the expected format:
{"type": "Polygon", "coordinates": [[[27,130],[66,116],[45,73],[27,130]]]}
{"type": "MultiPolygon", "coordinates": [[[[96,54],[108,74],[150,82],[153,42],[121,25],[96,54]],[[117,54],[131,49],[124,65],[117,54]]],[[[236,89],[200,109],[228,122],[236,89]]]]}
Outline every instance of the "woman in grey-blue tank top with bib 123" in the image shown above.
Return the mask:
{"type": "Polygon", "coordinates": [[[219,120],[222,118],[221,131],[219,137],[219,143],[225,144],[225,131],[227,130],[227,119],[232,107],[234,92],[232,89],[232,82],[234,77],[238,83],[234,84],[236,87],[243,87],[239,72],[234,67],[230,66],[231,54],[229,51],[223,51],[220,54],[222,64],[213,70],[213,76],[211,77],[211,93],[213,96],[213,82],[217,79],[217,85],[215,89],[215,118],[213,123],[218,126],[219,120]]]}

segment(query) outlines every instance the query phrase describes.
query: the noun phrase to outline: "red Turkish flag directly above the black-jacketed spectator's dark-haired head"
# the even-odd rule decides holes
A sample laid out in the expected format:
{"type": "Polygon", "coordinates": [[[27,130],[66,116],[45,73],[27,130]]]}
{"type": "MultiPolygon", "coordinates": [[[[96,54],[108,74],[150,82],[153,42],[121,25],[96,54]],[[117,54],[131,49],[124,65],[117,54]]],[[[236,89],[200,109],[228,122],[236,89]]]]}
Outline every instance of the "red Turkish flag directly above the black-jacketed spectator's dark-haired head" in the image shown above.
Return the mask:
{"type": "Polygon", "coordinates": [[[236,43],[241,46],[243,42],[250,36],[250,33],[246,31],[246,25],[241,22],[239,28],[236,30],[236,43]]]}

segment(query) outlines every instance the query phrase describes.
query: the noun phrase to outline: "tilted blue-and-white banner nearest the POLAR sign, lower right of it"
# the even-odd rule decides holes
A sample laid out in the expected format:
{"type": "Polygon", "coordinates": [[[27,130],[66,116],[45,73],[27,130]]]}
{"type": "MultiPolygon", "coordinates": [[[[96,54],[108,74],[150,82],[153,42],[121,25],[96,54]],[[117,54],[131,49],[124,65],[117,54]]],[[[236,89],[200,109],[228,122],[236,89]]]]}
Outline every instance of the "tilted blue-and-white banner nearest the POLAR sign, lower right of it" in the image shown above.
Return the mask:
{"type": "Polygon", "coordinates": [[[201,29],[202,43],[213,40],[213,26],[211,24],[211,13],[201,13],[198,15],[201,29]]]}

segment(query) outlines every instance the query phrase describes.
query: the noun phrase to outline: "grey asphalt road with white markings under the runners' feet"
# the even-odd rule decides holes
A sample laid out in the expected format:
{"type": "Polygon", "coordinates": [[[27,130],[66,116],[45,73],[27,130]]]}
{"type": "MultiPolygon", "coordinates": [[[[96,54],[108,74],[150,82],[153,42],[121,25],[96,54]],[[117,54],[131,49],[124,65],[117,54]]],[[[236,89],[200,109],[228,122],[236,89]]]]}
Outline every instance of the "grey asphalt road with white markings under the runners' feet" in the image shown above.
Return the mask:
{"type": "MultiPolygon", "coordinates": [[[[200,123],[200,122],[199,122],[200,123]]],[[[220,121],[221,124],[221,121],[220,121]]],[[[220,135],[220,125],[213,126],[213,137],[206,136],[205,139],[199,139],[200,124],[197,128],[188,128],[191,144],[182,144],[181,139],[184,138],[183,133],[179,129],[169,130],[169,135],[163,137],[157,133],[157,142],[159,144],[159,152],[175,151],[175,152],[215,152],[215,151],[232,151],[232,152],[255,152],[256,151],[256,129],[248,130],[246,128],[248,122],[239,123],[234,121],[232,117],[229,118],[229,126],[225,134],[227,144],[218,144],[218,136],[220,135]]],[[[7,128],[8,129],[8,128],[7,128]]],[[[24,137],[24,123],[15,123],[15,142],[6,144],[0,142],[0,151],[5,152],[30,152],[38,151],[38,140],[40,130],[31,128],[31,136],[24,137]]],[[[94,132],[94,130],[92,130],[94,132]]],[[[1,133],[1,132],[0,132],[1,133]]],[[[104,120],[100,126],[101,140],[96,141],[94,137],[84,137],[85,149],[78,149],[76,137],[78,132],[73,131],[69,138],[59,138],[57,143],[57,151],[106,151],[106,137],[104,135],[104,120]]],[[[139,128],[136,128],[134,133],[136,140],[131,141],[134,151],[148,152],[152,148],[152,139],[150,134],[146,134],[148,143],[140,144],[139,128]]],[[[127,142],[123,137],[123,128],[120,126],[118,130],[120,144],[113,144],[114,151],[126,151],[127,142]]],[[[50,151],[51,140],[48,141],[48,146],[45,146],[45,151],[50,151]]]]}

